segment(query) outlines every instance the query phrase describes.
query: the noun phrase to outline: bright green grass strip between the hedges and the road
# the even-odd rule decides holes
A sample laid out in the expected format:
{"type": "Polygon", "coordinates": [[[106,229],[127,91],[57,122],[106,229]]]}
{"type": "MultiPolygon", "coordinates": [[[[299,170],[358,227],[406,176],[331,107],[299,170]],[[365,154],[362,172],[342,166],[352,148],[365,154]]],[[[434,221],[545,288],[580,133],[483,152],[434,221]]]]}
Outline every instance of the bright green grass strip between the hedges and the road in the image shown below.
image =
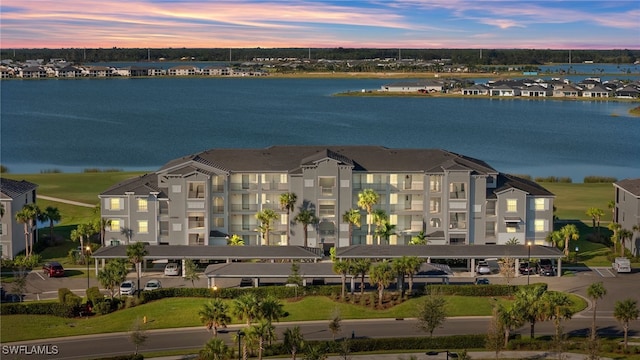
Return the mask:
{"type": "MultiPolygon", "coordinates": [[[[575,304],[576,311],[586,308],[584,300],[572,294],[569,296],[575,304]]],[[[445,298],[448,316],[489,316],[494,301],[491,297],[445,296],[445,298]]],[[[207,301],[203,298],[166,298],[88,319],[66,319],[48,315],[5,315],[0,324],[0,342],[43,339],[51,337],[52,334],[74,336],[128,331],[132,321],[137,318],[142,319],[144,316],[148,321],[147,329],[202,326],[198,311],[207,301]]],[[[414,298],[386,310],[374,310],[364,306],[334,302],[324,296],[309,296],[299,301],[285,300],[284,311],[288,316],[281,321],[327,320],[328,323],[335,309],[340,311],[342,319],[411,318],[416,316],[416,304],[420,301],[420,298],[414,298]]],[[[235,318],[233,322],[239,323],[235,318]]]]}

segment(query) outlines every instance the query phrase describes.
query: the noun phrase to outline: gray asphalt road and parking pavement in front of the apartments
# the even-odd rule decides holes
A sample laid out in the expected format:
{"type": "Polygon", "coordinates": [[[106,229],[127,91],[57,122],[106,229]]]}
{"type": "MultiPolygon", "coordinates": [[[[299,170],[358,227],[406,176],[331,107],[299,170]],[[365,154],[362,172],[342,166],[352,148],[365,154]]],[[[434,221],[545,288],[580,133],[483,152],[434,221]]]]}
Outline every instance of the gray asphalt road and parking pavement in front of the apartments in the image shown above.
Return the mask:
{"type": "MultiPolygon", "coordinates": [[[[39,289],[40,296],[48,295],[53,289],[58,287],[75,288],[80,294],[86,288],[86,279],[69,278],[69,279],[50,279],[39,276],[38,273],[30,274],[30,289],[39,289]],[[51,290],[47,290],[51,289],[51,290]]],[[[134,275],[132,274],[131,277],[134,275]]],[[[150,278],[159,278],[165,286],[191,286],[181,278],[165,277],[161,272],[147,272],[143,277],[143,282],[150,278]]],[[[473,278],[457,276],[452,282],[471,282],[473,278]]],[[[95,280],[91,279],[92,285],[95,280]]],[[[504,279],[501,277],[491,277],[492,283],[500,283],[504,279]]],[[[603,278],[594,271],[581,271],[575,276],[566,276],[562,278],[546,278],[532,276],[529,278],[531,283],[547,282],[551,290],[566,291],[580,296],[586,296],[586,288],[593,282],[603,281],[607,288],[608,294],[598,304],[598,328],[599,333],[607,335],[620,336],[622,329],[613,319],[613,307],[616,300],[628,297],[640,297],[640,273],[623,274],[616,277],[603,278]]],[[[203,286],[204,280],[201,279],[196,286],[203,286]]],[[[526,277],[514,280],[515,283],[526,283],[526,277]]],[[[227,284],[234,286],[233,284],[227,284]]],[[[30,295],[33,296],[33,295],[30,295]]],[[[580,314],[576,314],[574,318],[564,324],[565,332],[584,335],[591,326],[592,307],[580,314]]],[[[307,322],[300,324],[302,332],[306,339],[320,340],[330,339],[331,333],[328,330],[328,320],[319,322],[307,322]]],[[[290,323],[277,324],[279,331],[286,327],[290,327],[290,323]]],[[[488,327],[487,317],[467,317],[467,318],[451,318],[447,320],[443,327],[437,329],[435,335],[453,335],[453,334],[474,334],[486,332],[488,327]]],[[[220,336],[231,342],[231,336],[237,331],[237,326],[230,326],[227,333],[220,336]]],[[[389,336],[423,336],[424,334],[417,330],[416,323],[412,319],[405,320],[344,320],[343,332],[344,336],[350,336],[352,331],[356,337],[389,337],[389,336]]],[[[528,334],[529,327],[525,325],[519,329],[522,334],[528,334]]],[[[550,322],[539,323],[536,325],[536,335],[552,334],[553,326],[550,322]]],[[[202,347],[202,345],[210,338],[203,327],[183,328],[183,329],[165,329],[148,332],[149,339],[145,344],[143,351],[169,351],[177,349],[193,349],[202,347]]],[[[640,324],[632,323],[631,335],[640,335],[640,324]]],[[[281,337],[280,337],[281,338],[281,337]]],[[[57,349],[56,356],[29,356],[28,359],[85,359],[94,354],[102,354],[105,356],[113,356],[119,354],[127,354],[133,351],[133,345],[128,341],[128,334],[101,334],[88,335],[64,339],[46,339],[29,342],[13,343],[11,345],[55,345],[57,349]],[[117,346],[114,346],[117,344],[117,346]]],[[[6,345],[6,344],[3,344],[6,345]]]]}

